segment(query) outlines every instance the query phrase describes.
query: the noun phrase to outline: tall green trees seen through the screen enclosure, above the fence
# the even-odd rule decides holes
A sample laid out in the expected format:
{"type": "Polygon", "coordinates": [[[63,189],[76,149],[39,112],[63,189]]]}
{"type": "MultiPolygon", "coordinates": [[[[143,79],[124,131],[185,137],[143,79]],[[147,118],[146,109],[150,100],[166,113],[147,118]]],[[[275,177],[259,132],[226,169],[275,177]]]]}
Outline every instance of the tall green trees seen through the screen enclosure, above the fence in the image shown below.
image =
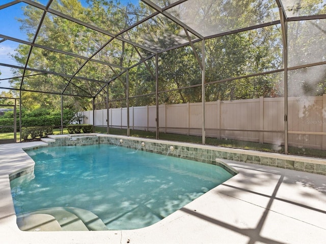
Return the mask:
{"type": "MultiPolygon", "coordinates": [[[[51,8],[111,33],[120,33],[128,26],[142,20],[144,16],[152,14],[151,8],[143,3],[134,5],[128,2],[124,5],[115,0],[86,2],[88,6],[80,4],[77,0],[53,1],[51,8]]],[[[167,1],[158,2],[162,6],[167,5],[167,1]]],[[[310,4],[308,9],[312,12],[320,8],[316,7],[317,0],[308,2],[307,4],[310,4]]],[[[182,8],[178,11],[180,17],[187,12],[188,16],[191,16],[189,19],[191,25],[200,25],[203,33],[212,31],[215,33],[216,29],[223,33],[229,29],[241,29],[248,24],[256,25],[260,21],[273,21],[274,15],[278,14],[274,9],[275,1],[257,0],[254,3],[239,1],[236,7],[233,5],[232,1],[198,0],[195,6],[180,5],[182,8]]],[[[19,19],[21,29],[30,37],[29,41],[33,41],[41,13],[41,10],[28,6],[24,8],[24,18],[19,19]]],[[[323,43],[326,38],[322,29],[326,21],[323,19],[291,21],[288,25],[289,67],[324,62],[323,43]]],[[[197,37],[193,34],[189,33],[189,35],[192,40],[196,40],[193,43],[194,47],[188,45],[167,52],[158,52],[159,103],[202,101],[202,70],[199,64],[202,63],[204,55],[202,42],[197,42],[197,37]]],[[[183,40],[187,40],[182,27],[160,15],[144,21],[141,26],[128,29],[120,36],[130,40],[132,37],[133,40],[153,49],[169,48],[172,42],[182,39],[182,43],[183,40]]],[[[129,86],[127,86],[126,70],[118,68],[118,66],[132,67],[149,57],[151,53],[148,51],[121,40],[108,41],[104,34],[50,13],[46,14],[42,22],[37,43],[48,46],[52,50],[61,50],[74,55],[64,55],[37,46],[33,47],[30,55],[30,47],[21,44],[13,56],[16,62],[24,65],[26,57],[29,56],[29,63],[36,69],[74,77],[34,74],[26,71],[25,75],[30,76],[24,78],[24,84],[20,84],[20,78],[11,79],[12,87],[17,89],[22,85],[26,90],[56,93],[56,95],[49,95],[23,91],[24,108],[58,111],[61,108],[62,94],[73,95],[63,98],[64,108],[73,111],[93,109],[91,97],[95,95],[97,95],[96,103],[106,106],[106,93],[111,100],[109,107],[112,108],[125,107],[127,94],[133,97],[129,101],[129,106],[156,103],[155,57],[128,70],[129,86]],[[104,44],[106,46],[89,60],[98,47],[104,44]],[[101,62],[95,62],[95,59],[101,62]],[[104,65],[103,62],[113,66],[104,65]],[[81,66],[83,69],[79,70],[81,66]],[[116,76],[118,78],[115,78],[116,76]],[[77,77],[85,77],[88,80],[77,77]],[[108,90],[105,83],[101,83],[103,81],[110,81],[108,90]],[[77,97],[77,95],[85,97],[77,97]]],[[[279,71],[284,68],[282,48],[280,24],[206,39],[205,101],[283,96],[284,74],[282,72],[255,76],[258,73],[279,71]]],[[[324,70],[322,65],[309,69],[289,70],[289,96],[320,96],[325,93],[326,72],[324,70]]],[[[17,69],[15,72],[14,75],[20,77],[22,70],[17,69]]],[[[78,117],[72,121],[65,119],[64,124],[69,123],[81,123],[81,119],[78,117]]]]}

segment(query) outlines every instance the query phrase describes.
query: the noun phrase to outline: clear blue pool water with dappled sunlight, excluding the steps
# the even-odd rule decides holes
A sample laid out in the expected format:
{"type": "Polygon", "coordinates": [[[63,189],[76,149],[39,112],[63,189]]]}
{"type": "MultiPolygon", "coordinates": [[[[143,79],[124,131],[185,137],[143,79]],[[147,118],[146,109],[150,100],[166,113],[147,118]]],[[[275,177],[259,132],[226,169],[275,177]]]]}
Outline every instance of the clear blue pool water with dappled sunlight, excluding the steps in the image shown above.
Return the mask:
{"type": "Polygon", "coordinates": [[[111,230],[154,224],[232,177],[219,166],[106,144],[27,153],[35,177],[11,181],[17,215],[77,207],[111,230]]]}

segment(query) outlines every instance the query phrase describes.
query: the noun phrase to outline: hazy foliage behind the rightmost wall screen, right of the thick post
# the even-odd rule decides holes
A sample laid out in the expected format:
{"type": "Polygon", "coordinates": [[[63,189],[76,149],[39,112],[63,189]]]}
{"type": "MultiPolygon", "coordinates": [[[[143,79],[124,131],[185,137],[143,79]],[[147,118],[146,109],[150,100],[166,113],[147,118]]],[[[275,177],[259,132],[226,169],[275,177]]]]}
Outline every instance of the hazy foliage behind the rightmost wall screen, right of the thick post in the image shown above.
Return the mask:
{"type": "MultiPolygon", "coordinates": [[[[314,5],[317,6],[317,4],[314,5]]],[[[303,65],[324,62],[326,54],[324,48],[326,42],[325,28],[325,19],[289,23],[288,65],[289,67],[298,67],[298,69],[288,72],[289,96],[322,96],[326,93],[324,64],[300,68],[303,65]]]]}

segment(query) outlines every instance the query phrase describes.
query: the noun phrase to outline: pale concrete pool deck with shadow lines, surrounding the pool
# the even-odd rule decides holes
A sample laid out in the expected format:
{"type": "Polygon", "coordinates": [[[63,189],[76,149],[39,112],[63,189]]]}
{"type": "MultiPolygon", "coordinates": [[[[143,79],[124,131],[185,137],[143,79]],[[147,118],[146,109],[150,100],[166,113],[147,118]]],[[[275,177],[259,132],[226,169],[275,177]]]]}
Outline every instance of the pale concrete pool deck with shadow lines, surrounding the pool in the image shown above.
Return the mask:
{"type": "Polygon", "coordinates": [[[236,176],[149,227],[21,231],[9,175],[34,165],[22,148],[41,145],[0,145],[1,243],[326,243],[326,176],[224,159],[236,176]]]}

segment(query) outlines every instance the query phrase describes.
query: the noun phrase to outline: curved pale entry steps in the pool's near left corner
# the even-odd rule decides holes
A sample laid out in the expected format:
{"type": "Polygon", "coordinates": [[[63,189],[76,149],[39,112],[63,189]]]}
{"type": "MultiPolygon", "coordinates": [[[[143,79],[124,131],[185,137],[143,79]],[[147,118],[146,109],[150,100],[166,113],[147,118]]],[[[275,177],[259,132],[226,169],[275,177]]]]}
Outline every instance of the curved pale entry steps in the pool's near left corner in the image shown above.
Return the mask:
{"type": "Polygon", "coordinates": [[[19,229],[28,231],[35,231],[36,229],[49,231],[49,228],[52,228],[52,231],[107,230],[100,218],[91,211],[74,207],[52,207],[37,210],[17,218],[17,225],[19,229]],[[55,222],[58,224],[54,224],[55,222]],[[53,223],[53,226],[48,226],[50,223],[53,223]],[[43,227],[44,224],[46,226],[43,227]],[[35,226],[37,227],[34,228],[35,226]]]}

